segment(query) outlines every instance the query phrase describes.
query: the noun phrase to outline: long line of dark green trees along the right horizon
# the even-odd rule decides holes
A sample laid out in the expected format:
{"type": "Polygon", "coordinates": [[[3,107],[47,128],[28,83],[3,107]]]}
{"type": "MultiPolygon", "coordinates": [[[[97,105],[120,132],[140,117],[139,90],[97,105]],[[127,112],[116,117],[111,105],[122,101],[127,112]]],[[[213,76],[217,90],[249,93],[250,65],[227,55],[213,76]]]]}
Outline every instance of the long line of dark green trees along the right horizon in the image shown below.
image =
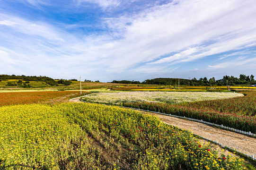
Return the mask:
{"type": "MultiPolygon", "coordinates": [[[[128,80],[113,80],[110,83],[121,83],[121,84],[146,84],[146,85],[178,85],[178,78],[154,78],[154,79],[147,79],[143,82],[139,81],[128,81],[128,80]]],[[[204,78],[196,79],[195,77],[192,79],[179,79],[180,85],[206,85],[206,86],[223,86],[223,85],[255,85],[256,81],[254,79],[254,76],[246,76],[243,74],[240,74],[239,78],[234,76],[223,76],[222,79],[216,80],[214,77],[210,78],[209,80],[204,78]]]]}

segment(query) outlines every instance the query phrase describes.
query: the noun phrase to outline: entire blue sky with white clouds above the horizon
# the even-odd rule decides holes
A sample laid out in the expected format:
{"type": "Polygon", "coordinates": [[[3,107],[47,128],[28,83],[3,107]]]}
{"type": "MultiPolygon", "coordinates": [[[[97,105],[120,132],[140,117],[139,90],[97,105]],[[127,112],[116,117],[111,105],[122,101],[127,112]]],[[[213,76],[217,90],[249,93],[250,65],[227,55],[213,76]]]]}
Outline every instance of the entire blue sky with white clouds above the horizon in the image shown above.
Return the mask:
{"type": "Polygon", "coordinates": [[[0,0],[0,74],[256,74],[255,0],[0,0]]]}

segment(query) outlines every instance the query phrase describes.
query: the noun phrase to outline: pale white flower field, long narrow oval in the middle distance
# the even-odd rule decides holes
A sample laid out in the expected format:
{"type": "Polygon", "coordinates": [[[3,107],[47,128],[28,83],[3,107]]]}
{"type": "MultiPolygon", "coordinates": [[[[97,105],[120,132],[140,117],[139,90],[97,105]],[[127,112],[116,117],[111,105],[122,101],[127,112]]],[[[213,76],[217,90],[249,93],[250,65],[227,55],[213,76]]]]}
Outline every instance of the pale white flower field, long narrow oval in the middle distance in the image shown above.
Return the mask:
{"type": "Polygon", "coordinates": [[[178,104],[203,100],[215,100],[244,96],[241,93],[207,92],[119,92],[92,93],[82,97],[83,101],[120,105],[124,102],[164,102],[178,104]]]}

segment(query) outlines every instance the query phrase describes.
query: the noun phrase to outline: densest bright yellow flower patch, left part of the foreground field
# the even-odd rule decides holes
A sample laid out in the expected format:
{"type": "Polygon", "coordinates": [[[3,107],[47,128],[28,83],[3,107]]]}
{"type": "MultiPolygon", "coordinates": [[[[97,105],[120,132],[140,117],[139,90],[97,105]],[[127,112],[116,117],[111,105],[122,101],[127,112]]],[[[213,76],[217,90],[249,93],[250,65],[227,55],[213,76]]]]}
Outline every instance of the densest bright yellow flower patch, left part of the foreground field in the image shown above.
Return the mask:
{"type": "Polygon", "coordinates": [[[0,170],[72,170],[82,158],[78,165],[100,165],[88,134],[69,122],[49,105],[0,107],[0,170]]]}

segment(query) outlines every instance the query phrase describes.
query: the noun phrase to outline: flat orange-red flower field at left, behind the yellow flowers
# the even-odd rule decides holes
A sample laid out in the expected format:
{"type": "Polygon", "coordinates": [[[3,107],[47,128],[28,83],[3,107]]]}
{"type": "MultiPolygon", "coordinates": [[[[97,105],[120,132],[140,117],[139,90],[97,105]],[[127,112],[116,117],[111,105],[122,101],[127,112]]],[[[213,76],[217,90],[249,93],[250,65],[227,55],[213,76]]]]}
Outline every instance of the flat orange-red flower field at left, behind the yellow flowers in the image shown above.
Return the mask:
{"type": "MultiPolygon", "coordinates": [[[[0,93],[0,106],[16,104],[32,104],[38,102],[64,102],[70,97],[78,97],[76,91],[44,91],[44,92],[6,92],[0,93]]],[[[87,94],[87,93],[86,93],[87,94]]]]}

